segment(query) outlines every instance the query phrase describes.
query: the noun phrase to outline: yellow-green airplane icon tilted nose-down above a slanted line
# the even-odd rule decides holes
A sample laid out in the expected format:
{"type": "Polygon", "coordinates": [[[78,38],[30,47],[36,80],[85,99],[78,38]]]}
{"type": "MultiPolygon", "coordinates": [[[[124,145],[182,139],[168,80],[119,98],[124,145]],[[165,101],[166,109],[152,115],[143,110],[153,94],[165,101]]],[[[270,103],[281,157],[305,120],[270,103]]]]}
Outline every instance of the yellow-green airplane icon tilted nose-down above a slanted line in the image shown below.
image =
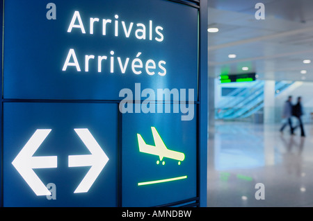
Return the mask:
{"type": "Polygon", "coordinates": [[[168,148],[166,148],[166,145],[163,143],[161,136],[157,132],[157,129],[155,129],[155,127],[151,127],[151,130],[155,146],[146,144],[141,134],[137,134],[140,152],[157,155],[160,157],[160,161],[163,159],[163,157],[176,159],[177,161],[184,161],[185,154],[183,152],[168,150],[168,148]]]}

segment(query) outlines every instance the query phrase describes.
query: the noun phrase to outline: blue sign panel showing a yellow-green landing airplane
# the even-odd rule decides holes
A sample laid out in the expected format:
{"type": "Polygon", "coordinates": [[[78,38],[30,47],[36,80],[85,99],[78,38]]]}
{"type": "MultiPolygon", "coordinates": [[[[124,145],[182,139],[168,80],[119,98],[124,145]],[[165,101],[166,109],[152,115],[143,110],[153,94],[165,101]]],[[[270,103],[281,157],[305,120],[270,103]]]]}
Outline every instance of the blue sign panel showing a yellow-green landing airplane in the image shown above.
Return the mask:
{"type": "Polygon", "coordinates": [[[196,197],[195,119],[123,114],[122,206],[157,206],[196,197]]]}

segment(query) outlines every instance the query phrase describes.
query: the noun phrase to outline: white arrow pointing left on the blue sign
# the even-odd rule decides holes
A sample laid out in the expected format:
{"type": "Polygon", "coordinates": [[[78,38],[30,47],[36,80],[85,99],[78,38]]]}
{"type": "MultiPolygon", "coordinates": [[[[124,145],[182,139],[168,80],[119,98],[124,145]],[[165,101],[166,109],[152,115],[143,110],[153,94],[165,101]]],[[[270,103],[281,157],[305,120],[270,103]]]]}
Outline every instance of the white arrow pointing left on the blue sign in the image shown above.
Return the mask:
{"type": "Polygon", "coordinates": [[[33,154],[45,141],[51,129],[36,130],[31,139],[24,145],[22,150],[17,154],[12,164],[17,172],[23,177],[36,195],[51,195],[45,184],[33,172],[37,168],[56,168],[57,157],[33,157],[33,154]]]}

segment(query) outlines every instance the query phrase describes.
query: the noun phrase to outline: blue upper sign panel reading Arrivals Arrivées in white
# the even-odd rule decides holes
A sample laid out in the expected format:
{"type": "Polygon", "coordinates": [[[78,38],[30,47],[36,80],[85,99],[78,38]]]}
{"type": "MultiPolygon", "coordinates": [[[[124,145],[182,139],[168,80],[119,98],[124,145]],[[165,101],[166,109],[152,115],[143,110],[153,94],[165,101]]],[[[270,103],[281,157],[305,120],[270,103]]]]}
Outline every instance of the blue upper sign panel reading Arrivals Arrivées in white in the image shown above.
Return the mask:
{"type": "Polygon", "coordinates": [[[54,4],[56,19],[46,1],[6,1],[4,98],[117,100],[136,82],[155,91],[193,88],[198,98],[196,8],[161,0],[54,4]]]}

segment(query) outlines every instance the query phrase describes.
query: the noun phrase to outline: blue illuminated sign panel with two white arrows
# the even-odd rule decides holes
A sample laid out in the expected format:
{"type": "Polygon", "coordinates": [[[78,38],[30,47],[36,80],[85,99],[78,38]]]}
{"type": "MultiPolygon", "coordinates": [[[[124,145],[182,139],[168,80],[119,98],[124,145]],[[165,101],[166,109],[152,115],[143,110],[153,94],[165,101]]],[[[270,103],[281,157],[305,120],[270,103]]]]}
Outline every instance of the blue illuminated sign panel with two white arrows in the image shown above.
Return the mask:
{"type": "Polygon", "coordinates": [[[5,103],[3,206],[118,206],[116,109],[5,103]]]}

